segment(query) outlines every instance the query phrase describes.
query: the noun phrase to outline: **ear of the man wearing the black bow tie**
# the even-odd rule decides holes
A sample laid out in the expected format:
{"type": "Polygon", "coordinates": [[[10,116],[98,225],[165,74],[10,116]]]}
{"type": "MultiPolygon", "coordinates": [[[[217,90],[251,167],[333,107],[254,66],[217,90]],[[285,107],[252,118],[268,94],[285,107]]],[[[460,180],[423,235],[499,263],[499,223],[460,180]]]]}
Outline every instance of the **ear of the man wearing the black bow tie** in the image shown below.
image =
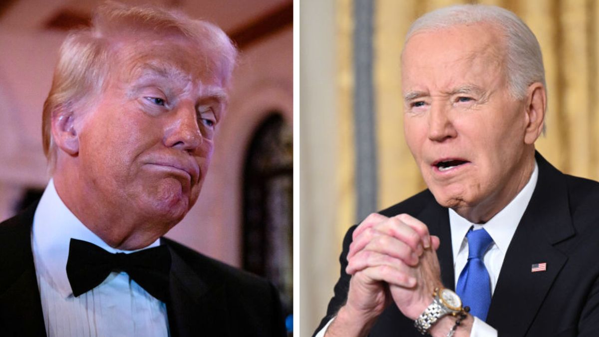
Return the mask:
{"type": "Polygon", "coordinates": [[[79,153],[79,137],[75,130],[75,114],[69,104],[52,112],[52,137],[56,146],[71,156],[79,153]]]}

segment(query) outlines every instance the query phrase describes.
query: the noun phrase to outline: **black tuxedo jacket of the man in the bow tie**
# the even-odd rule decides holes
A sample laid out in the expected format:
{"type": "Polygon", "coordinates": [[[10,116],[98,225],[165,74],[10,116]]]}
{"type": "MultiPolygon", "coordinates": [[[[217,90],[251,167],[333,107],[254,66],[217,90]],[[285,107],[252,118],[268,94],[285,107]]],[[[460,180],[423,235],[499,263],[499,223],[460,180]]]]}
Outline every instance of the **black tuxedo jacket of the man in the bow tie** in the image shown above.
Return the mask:
{"type": "MultiPolygon", "coordinates": [[[[33,205],[0,224],[0,336],[46,336],[33,254],[33,205]]],[[[171,336],[285,336],[269,282],[172,240],[171,336]]]]}

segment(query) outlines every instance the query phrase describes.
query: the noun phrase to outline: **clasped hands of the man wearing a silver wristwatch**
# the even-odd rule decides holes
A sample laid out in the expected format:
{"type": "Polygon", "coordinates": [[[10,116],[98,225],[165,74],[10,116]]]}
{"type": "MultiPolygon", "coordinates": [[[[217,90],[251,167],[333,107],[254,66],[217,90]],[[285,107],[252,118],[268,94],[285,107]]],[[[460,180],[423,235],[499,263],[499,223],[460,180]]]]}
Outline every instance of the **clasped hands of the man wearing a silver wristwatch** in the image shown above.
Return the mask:
{"type": "Polygon", "coordinates": [[[439,239],[407,214],[368,216],[353,232],[346,272],[352,275],[346,306],[376,318],[392,302],[415,320],[440,287],[439,239]]]}

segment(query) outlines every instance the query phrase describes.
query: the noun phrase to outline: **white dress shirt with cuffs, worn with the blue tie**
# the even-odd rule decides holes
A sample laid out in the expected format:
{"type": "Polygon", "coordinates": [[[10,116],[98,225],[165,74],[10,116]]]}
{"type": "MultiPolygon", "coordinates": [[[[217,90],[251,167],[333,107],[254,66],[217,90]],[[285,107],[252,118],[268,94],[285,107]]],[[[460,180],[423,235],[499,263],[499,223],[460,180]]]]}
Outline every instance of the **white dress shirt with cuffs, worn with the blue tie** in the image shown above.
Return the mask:
{"type": "MultiPolygon", "coordinates": [[[[512,241],[522,215],[524,215],[524,211],[528,207],[530,198],[533,196],[538,177],[539,167],[535,162],[533,174],[531,174],[528,183],[506,207],[493,216],[486,224],[473,224],[459,216],[453,209],[449,209],[449,226],[451,227],[453,248],[453,271],[455,272],[456,283],[454,286],[458,284],[459,274],[468,261],[468,239],[466,238],[466,233],[468,233],[468,230],[472,226],[474,226],[474,230],[485,228],[493,239],[491,247],[483,257],[483,263],[485,263],[485,267],[489,272],[489,278],[491,279],[491,294],[493,294],[501,266],[503,265],[503,259],[506,257],[507,248],[512,241]]],[[[323,337],[332,321],[330,320],[317,333],[316,337],[323,337]]],[[[470,337],[497,337],[497,330],[479,318],[474,317],[470,337]]]]}

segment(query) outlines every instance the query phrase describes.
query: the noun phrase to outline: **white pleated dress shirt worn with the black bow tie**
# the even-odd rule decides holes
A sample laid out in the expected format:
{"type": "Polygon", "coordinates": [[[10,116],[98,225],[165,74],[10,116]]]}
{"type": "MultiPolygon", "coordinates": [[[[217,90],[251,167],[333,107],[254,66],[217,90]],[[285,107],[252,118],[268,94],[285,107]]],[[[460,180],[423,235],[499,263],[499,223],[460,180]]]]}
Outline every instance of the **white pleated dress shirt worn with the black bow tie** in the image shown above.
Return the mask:
{"type": "MultiPolygon", "coordinates": [[[[60,200],[50,180],[35,210],[31,234],[47,335],[168,336],[165,303],[147,293],[125,272],[112,272],[98,287],[74,297],[66,276],[71,238],[91,242],[112,253],[132,252],[111,248],[85,227],[60,200]]],[[[146,248],[158,245],[156,240],[146,248]]]]}

